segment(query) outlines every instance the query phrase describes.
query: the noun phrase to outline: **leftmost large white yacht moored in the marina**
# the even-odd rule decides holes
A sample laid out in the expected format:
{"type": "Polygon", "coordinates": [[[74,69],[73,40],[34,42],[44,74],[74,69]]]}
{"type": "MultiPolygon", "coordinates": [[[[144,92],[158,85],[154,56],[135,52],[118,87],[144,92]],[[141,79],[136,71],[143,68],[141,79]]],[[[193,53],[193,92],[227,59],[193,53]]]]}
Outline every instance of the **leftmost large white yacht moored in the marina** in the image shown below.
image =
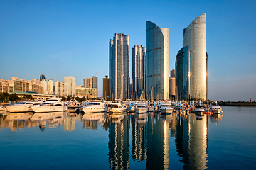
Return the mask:
{"type": "Polygon", "coordinates": [[[13,105],[8,105],[5,106],[6,110],[11,112],[11,113],[16,113],[16,112],[32,112],[31,106],[38,106],[43,101],[21,101],[19,103],[13,104],[13,105]]]}

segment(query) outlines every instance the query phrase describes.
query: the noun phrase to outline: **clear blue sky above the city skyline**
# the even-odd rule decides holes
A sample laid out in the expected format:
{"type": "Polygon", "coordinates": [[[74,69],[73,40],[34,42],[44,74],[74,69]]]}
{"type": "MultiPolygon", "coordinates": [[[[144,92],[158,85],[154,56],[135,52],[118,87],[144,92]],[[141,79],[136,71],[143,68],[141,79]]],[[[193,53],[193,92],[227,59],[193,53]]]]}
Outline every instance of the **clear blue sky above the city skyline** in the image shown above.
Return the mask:
{"type": "Polygon", "coordinates": [[[99,95],[114,33],[146,45],[146,21],[169,28],[169,70],[183,29],[206,13],[208,98],[256,101],[256,1],[0,1],[0,79],[63,81],[96,74],[99,95]]]}

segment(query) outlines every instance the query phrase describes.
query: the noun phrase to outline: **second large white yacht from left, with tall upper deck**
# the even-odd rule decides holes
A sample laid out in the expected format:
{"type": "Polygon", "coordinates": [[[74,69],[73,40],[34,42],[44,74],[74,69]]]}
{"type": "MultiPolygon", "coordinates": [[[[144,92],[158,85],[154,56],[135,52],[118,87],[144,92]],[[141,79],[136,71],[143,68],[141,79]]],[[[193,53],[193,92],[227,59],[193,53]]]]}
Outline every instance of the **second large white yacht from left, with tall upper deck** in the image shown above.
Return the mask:
{"type": "Polygon", "coordinates": [[[49,98],[39,106],[31,106],[33,112],[53,112],[64,111],[64,103],[61,98],[49,98]]]}

